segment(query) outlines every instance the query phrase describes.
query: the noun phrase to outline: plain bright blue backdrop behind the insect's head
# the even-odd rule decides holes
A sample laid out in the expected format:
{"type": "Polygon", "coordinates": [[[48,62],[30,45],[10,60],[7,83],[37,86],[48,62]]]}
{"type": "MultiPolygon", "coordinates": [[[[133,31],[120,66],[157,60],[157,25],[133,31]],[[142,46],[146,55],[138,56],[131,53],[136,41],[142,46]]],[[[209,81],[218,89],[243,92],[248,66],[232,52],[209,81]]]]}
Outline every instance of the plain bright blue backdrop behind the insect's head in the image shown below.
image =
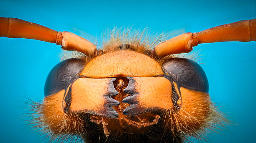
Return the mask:
{"type": "MultiPolygon", "coordinates": [[[[0,16],[35,22],[94,40],[114,26],[149,27],[152,32],[199,32],[210,27],[256,18],[254,0],[205,1],[0,1],[0,16]]],[[[212,143],[254,142],[256,42],[200,44],[201,64],[210,83],[212,101],[222,106],[236,125],[209,135],[212,143]]],[[[61,49],[52,43],[0,37],[0,142],[39,143],[20,119],[23,101],[44,98],[47,74],[60,61],[61,49]]],[[[47,140],[41,141],[42,143],[47,140]]],[[[200,141],[199,141],[200,142],[200,141]]]]}

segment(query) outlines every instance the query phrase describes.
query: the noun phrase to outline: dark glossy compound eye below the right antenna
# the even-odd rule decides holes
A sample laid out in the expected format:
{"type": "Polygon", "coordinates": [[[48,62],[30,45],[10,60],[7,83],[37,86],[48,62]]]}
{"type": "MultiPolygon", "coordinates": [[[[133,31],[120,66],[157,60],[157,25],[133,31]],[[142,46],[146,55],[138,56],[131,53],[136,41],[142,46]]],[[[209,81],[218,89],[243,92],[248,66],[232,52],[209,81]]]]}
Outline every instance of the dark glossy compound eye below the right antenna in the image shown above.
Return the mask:
{"type": "Polygon", "coordinates": [[[202,67],[186,58],[172,58],[163,65],[164,72],[180,86],[194,91],[209,91],[209,84],[202,67]]]}

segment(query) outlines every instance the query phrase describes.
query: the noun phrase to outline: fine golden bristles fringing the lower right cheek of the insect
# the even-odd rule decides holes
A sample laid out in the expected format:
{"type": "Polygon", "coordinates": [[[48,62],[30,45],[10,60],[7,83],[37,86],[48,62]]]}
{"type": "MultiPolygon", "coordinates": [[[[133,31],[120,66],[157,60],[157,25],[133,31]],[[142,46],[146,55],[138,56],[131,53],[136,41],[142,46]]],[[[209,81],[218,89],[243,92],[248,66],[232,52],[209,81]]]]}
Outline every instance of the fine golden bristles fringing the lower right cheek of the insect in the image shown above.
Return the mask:
{"type": "MultiPolygon", "coordinates": [[[[164,123],[166,129],[169,128],[172,133],[184,139],[185,142],[191,142],[192,138],[200,142],[208,141],[207,136],[212,133],[218,133],[225,129],[229,124],[224,113],[218,110],[212,102],[193,101],[192,108],[179,108],[175,110],[166,110],[164,112],[164,123]],[[207,112],[207,114],[202,114],[207,112]]],[[[193,141],[192,141],[193,142],[193,141]]]]}

